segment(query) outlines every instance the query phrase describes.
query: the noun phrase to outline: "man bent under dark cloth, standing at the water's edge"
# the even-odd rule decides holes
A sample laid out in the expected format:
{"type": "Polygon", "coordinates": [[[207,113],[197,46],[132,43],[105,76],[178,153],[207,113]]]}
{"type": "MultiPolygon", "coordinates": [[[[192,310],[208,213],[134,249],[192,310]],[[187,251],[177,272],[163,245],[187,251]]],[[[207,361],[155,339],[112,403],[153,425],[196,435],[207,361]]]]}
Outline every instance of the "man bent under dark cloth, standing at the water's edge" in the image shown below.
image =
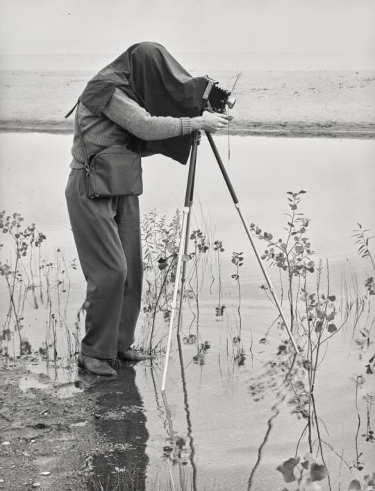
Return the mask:
{"type": "Polygon", "coordinates": [[[87,156],[126,144],[141,156],[162,153],[185,164],[193,131],[215,133],[226,115],[204,112],[206,78],[193,78],[160,46],[134,44],[86,86],[76,110],[67,208],[87,281],[85,337],[78,367],[115,376],[111,361],[144,360],[131,349],[142,295],[137,196],[89,199],[87,156]]]}

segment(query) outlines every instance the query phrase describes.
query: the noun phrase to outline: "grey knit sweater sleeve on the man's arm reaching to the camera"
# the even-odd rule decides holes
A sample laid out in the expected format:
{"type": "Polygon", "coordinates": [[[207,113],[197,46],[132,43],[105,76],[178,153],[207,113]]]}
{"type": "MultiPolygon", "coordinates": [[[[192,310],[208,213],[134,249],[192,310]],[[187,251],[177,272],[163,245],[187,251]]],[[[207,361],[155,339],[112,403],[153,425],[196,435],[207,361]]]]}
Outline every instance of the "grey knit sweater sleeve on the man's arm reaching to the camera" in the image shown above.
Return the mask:
{"type": "Polygon", "coordinates": [[[192,132],[189,117],[151,116],[119,89],[110,98],[104,115],[141,140],[165,140],[192,132]]]}

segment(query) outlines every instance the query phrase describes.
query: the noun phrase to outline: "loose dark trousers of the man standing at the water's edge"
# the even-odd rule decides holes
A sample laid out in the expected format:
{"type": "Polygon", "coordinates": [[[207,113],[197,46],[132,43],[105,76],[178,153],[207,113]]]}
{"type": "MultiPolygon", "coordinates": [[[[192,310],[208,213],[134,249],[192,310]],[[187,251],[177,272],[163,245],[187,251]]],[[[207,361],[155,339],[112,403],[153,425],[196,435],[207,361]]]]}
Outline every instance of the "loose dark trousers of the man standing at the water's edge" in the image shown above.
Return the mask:
{"type": "Polygon", "coordinates": [[[85,170],[72,169],[65,189],[79,262],[87,282],[84,355],[116,358],[134,342],[142,297],[138,197],[89,199],[85,170]]]}

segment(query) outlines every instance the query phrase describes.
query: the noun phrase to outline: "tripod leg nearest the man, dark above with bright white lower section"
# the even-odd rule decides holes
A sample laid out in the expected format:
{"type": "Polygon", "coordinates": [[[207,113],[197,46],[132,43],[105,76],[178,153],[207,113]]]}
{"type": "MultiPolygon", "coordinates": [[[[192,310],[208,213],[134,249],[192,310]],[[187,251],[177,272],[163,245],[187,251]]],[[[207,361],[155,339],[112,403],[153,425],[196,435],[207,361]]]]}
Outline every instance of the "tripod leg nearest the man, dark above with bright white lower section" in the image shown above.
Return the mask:
{"type": "MultiPolygon", "coordinates": [[[[180,284],[181,264],[183,263],[183,253],[184,253],[184,251],[187,247],[187,244],[188,244],[188,228],[190,225],[190,208],[192,205],[192,197],[193,197],[193,193],[194,193],[195,169],[197,166],[197,146],[198,146],[198,132],[194,131],[193,140],[192,140],[192,151],[190,154],[188,182],[186,184],[185,206],[183,207],[183,222],[181,225],[181,237],[180,237],[180,245],[179,245],[179,249],[178,249],[176,278],[174,280],[174,291],[173,291],[172,304],[171,304],[171,317],[169,319],[167,350],[165,352],[163,381],[162,381],[161,390],[165,390],[165,381],[167,378],[169,353],[171,351],[171,343],[172,343],[174,313],[176,312],[178,286],[180,284]]],[[[184,276],[183,281],[185,281],[185,263],[183,263],[183,276],[184,276]]],[[[182,288],[183,288],[183,285],[181,286],[181,299],[182,299],[182,294],[183,294],[182,288]]],[[[181,300],[180,300],[180,312],[181,312],[181,300]]],[[[179,320],[181,320],[181,313],[179,315],[179,320]]]]}

